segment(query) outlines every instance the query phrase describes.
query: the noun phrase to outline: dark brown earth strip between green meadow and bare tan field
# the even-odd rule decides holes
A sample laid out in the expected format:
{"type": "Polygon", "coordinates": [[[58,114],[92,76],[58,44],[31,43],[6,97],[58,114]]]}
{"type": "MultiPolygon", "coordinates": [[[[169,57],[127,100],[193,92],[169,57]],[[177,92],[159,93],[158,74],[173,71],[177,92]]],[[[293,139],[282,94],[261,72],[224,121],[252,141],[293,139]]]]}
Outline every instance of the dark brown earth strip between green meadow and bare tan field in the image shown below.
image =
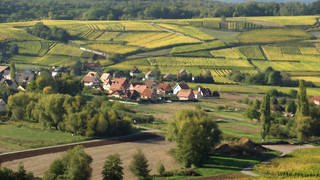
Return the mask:
{"type": "Polygon", "coordinates": [[[81,145],[85,148],[89,148],[89,147],[98,147],[98,146],[104,146],[104,145],[120,144],[125,142],[135,142],[135,141],[156,139],[156,138],[163,139],[162,136],[157,135],[154,132],[146,131],[142,133],[136,133],[132,135],[121,136],[121,137],[110,138],[110,139],[98,139],[98,140],[84,141],[79,143],[71,143],[71,144],[65,144],[65,145],[31,149],[31,150],[25,150],[25,151],[9,152],[9,153],[0,154],[0,164],[7,161],[24,159],[24,158],[29,158],[33,156],[64,152],[78,145],[81,145]]]}

